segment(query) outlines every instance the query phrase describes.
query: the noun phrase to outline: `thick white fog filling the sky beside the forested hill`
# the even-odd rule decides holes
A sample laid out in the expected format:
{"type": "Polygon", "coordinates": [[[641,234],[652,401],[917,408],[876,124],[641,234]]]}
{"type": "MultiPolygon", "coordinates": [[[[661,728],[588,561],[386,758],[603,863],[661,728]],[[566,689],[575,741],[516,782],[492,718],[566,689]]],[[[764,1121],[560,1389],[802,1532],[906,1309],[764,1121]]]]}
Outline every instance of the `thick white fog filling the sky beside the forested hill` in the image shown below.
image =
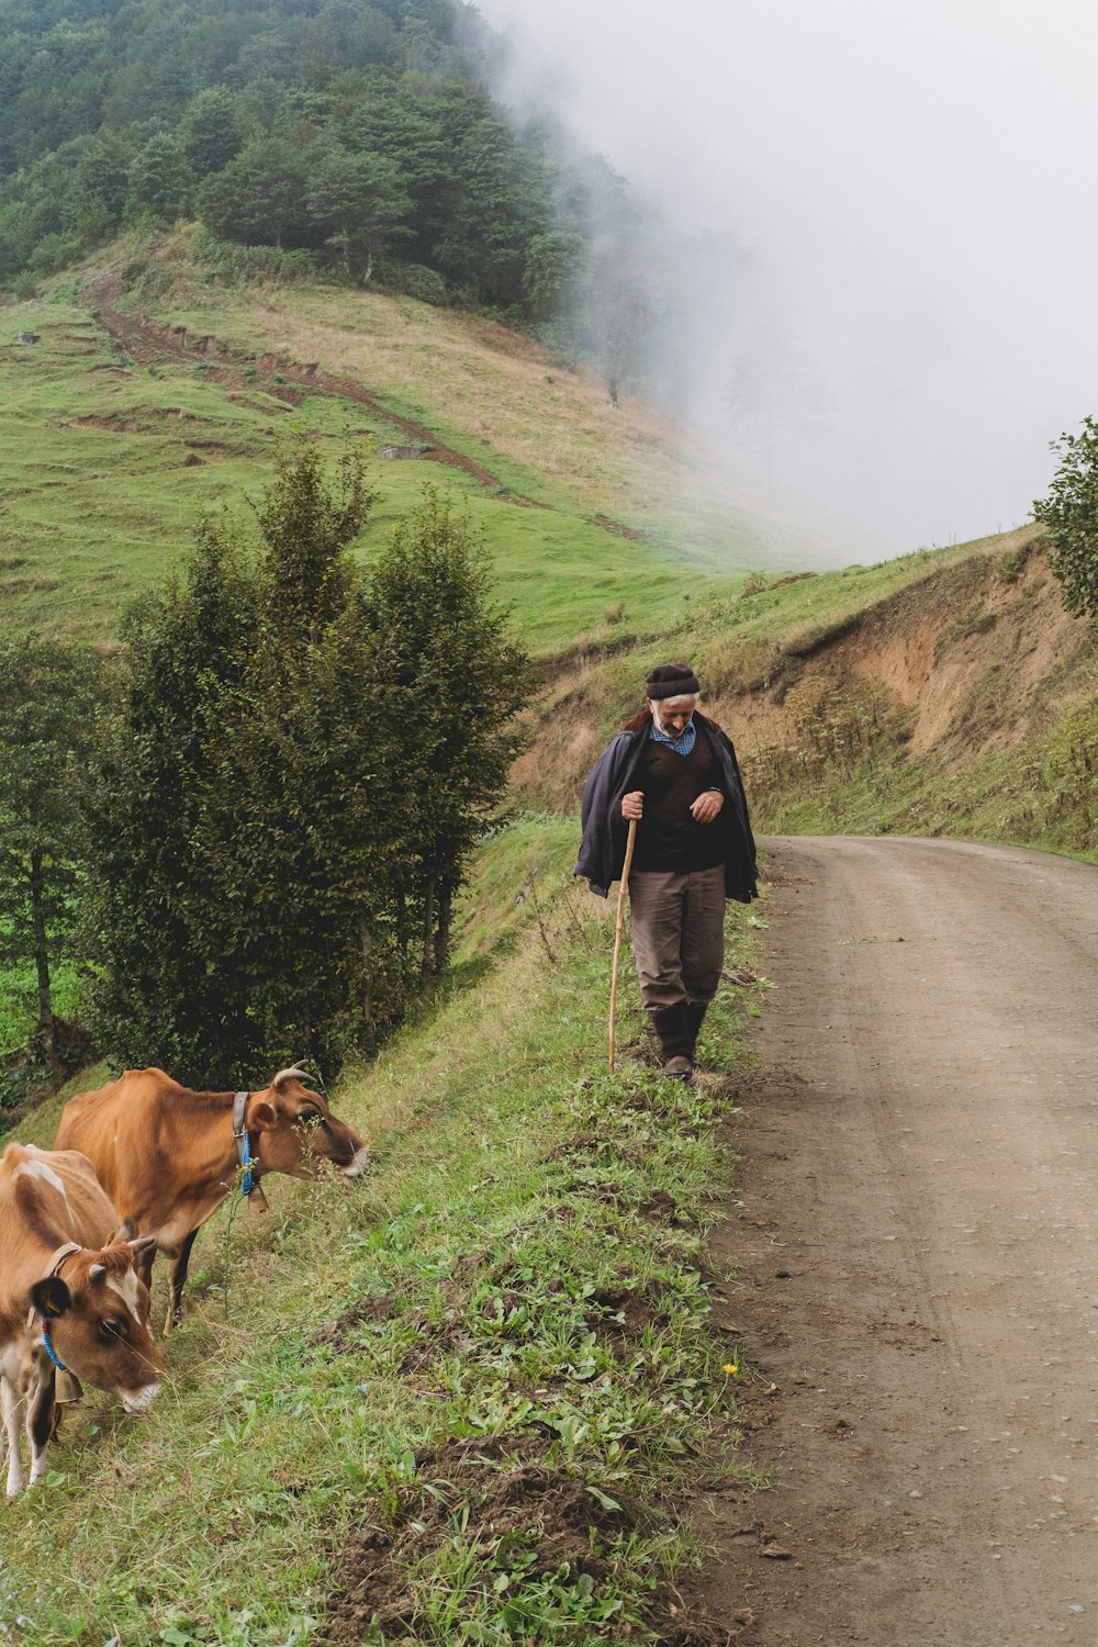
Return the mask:
{"type": "Polygon", "coordinates": [[[551,109],[678,231],[734,237],[677,407],[731,474],[840,558],[1029,517],[1049,441],[1098,413],[1098,7],[477,10],[507,33],[504,100],[551,109]]]}

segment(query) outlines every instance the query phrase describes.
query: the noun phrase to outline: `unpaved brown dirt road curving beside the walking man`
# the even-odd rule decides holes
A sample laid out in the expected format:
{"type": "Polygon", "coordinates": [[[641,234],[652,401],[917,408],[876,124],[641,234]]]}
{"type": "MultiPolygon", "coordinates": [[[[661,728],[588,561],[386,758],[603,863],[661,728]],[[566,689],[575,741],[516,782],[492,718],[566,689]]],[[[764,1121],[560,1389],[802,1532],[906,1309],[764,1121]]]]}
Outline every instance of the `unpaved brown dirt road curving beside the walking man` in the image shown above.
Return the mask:
{"type": "Polygon", "coordinates": [[[1098,870],[769,850],[714,1247],[774,1486],[701,1512],[708,1612],[752,1647],[1095,1647],[1098,870]]]}

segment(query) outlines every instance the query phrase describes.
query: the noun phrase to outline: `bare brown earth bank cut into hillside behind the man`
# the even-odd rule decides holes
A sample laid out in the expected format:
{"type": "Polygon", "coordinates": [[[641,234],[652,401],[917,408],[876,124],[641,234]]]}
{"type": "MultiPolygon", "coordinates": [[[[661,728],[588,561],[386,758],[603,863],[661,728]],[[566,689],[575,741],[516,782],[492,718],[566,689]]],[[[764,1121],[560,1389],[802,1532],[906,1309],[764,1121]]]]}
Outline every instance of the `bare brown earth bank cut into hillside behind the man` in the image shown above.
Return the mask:
{"type": "MultiPolygon", "coordinates": [[[[733,733],[741,756],[795,746],[820,702],[848,695],[854,716],[863,707],[892,716],[909,756],[937,751],[963,764],[1049,726],[1083,652],[1093,657],[1093,637],[1063,609],[1029,527],[1001,540],[998,553],[943,567],[831,631],[779,636],[764,649],[706,634],[691,656],[705,677],[703,708],[733,733]]],[[[598,659],[575,665],[566,697],[515,763],[523,800],[575,809],[606,743],[599,670],[598,659]]]]}

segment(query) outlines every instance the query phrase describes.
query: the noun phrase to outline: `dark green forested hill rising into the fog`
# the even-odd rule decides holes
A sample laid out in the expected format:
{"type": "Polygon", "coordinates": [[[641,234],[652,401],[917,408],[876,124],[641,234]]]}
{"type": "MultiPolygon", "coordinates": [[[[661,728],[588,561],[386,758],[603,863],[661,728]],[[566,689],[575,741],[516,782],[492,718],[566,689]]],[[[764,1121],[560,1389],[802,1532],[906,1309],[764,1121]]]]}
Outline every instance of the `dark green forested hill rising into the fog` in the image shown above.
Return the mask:
{"type": "Polygon", "coordinates": [[[0,0],[0,285],[198,217],[537,324],[624,189],[509,124],[491,51],[459,0],[0,0]]]}

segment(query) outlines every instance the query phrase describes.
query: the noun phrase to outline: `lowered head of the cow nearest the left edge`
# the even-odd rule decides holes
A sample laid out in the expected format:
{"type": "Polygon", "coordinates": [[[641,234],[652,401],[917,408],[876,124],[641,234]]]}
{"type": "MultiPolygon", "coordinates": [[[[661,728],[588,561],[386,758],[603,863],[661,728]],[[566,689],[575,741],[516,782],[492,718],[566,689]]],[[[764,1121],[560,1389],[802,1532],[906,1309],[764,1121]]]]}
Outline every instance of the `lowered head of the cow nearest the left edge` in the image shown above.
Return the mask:
{"type": "Polygon", "coordinates": [[[64,1260],[63,1275],[48,1275],[30,1290],[58,1360],[86,1383],[110,1390],[130,1413],[160,1393],[163,1374],[148,1331],[148,1288],[133,1267],[150,1243],[145,1237],[112,1240],[102,1252],[82,1248],[64,1260]]]}

